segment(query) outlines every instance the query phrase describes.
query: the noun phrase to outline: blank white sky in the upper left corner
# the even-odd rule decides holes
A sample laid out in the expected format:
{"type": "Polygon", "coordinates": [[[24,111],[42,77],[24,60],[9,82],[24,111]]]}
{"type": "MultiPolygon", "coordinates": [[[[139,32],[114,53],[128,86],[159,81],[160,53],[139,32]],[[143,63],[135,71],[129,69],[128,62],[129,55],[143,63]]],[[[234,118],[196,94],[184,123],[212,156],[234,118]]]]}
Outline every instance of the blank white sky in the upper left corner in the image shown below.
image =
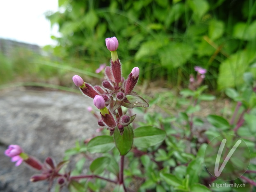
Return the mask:
{"type": "Polygon", "coordinates": [[[55,45],[59,36],[45,19],[47,11],[58,11],[58,0],[0,0],[0,38],[44,46],[55,45]]]}

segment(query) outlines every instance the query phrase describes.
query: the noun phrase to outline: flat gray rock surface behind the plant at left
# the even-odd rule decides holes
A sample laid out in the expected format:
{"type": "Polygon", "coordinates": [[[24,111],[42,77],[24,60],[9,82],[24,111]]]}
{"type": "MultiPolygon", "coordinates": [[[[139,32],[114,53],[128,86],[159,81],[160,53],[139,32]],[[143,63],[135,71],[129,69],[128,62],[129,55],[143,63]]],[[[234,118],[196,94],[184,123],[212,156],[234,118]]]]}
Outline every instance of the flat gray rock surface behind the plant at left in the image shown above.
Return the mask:
{"type": "Polygon", "coordinates": [[[69,92],[20,88],[1,92],[0,191],[47,191],[47,182],[29,181],[40,172],[24,162],[15,167],[4,150],[10,144],[17,144],[41,162],[48,156],[60,162],[65,150],[75,147],[76,140],[96,134],[97,120],[87,111],[88,106],[93,106],[92,99],[69,92]]]}

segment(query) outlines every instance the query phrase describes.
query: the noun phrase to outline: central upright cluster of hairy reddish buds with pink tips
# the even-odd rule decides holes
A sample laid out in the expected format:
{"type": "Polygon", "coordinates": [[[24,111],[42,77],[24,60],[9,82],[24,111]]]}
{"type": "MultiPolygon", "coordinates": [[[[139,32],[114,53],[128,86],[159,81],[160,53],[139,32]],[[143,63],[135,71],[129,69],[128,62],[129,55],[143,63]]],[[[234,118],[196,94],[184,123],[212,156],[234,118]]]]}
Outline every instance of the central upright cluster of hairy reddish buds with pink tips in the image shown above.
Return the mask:
{"type": "MultiPolygon", "coordinates": [[[[127,79],[124,80],[121,72],[121,63],[116,52],[118,45],[116,37],[106,38],[106,46],[111,53],[111,60],[110,66],[105,67],[105,79],[101,86],[92,86],[85,83],[77,75],[73,77],[73,81],[80,91],[84,95],[93,98],[93,104],[100,110],[98,125],[107,127],[110,130],[110,134],[113,134],[115,129],[122,134],[124,127],[132,123],[134,118],[131,119],[130,116],[123,115],[121,106],[123,102],[130,103],[126,96],[134,94],[133,89],[138,82],[140,74],[140,69],[135,67],[127,79]]],[[[99,70],[102,70],[102,66],[99,70]]]]}

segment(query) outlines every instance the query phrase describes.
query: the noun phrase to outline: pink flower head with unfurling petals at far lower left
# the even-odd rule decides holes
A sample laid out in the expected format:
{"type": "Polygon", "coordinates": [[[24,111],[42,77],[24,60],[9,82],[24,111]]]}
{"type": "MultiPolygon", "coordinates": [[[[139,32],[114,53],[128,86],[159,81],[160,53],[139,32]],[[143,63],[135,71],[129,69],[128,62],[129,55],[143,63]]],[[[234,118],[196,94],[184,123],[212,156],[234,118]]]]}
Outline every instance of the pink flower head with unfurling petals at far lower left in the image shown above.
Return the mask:
{"type": "Polygon", "coordinates": [[[9,145],[4,152],[6,156],[12,157],[12,162],[16,162],[15,166],[19,166],[23,161],[22,157],[20,157],[21,153],[23,153],[23,150],[19,145],[9,145]]]}

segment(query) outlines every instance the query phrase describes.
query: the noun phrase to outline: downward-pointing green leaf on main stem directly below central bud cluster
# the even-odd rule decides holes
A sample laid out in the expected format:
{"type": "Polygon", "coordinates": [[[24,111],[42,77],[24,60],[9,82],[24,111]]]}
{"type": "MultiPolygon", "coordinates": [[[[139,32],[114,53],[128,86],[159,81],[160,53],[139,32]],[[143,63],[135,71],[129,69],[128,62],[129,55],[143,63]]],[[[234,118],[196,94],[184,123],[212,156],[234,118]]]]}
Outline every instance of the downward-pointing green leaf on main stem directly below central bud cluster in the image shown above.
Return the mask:
{"type": "Polygon", "coordinates": [[[120,135],[120,132],[116,129],[114,132],[114,140],[116,142],[116,148],[120,152],[120,155],[126,155],[132,148],[132,127],[130,125],[124,127],[124,133],[122,135],[120,135]]]}

